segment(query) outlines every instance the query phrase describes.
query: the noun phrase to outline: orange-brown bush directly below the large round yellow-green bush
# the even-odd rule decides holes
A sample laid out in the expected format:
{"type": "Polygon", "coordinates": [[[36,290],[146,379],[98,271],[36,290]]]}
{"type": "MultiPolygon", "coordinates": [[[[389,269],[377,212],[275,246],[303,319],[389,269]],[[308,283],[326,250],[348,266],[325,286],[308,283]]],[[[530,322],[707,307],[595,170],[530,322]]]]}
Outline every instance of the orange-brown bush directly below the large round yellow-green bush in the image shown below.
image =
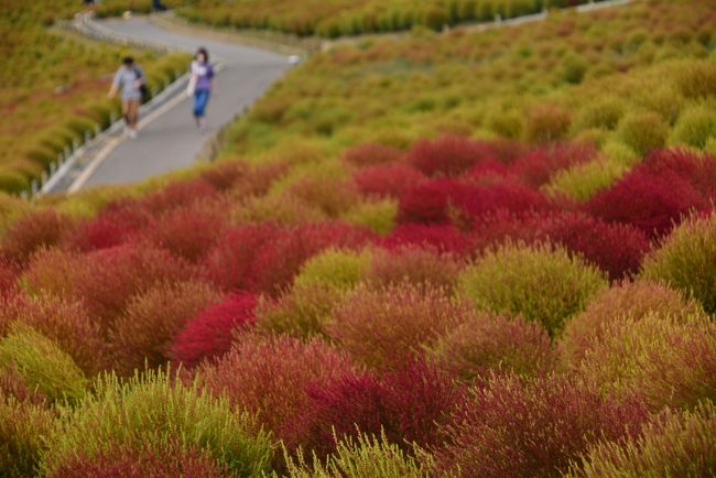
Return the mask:
{"type": "Polygon", "coordinates": [[[431,347],[428,357],[465,381],[511,372],[534,377],[552,368],[550,336],[539,324],[475,314],[431,347]]]}

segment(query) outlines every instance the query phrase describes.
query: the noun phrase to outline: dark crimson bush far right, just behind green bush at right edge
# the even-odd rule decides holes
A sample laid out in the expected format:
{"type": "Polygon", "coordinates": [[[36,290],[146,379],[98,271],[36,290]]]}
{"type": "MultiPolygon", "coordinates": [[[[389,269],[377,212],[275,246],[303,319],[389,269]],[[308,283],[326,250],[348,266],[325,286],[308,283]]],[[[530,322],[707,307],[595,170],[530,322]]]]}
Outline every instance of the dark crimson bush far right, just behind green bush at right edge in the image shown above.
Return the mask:
{"type": "Polygon", "coordinates": [[[710,205],[687,180],[673,172],[654,175],[636,170],[597,193],[585,207],[594,216],[630,224],[657,238],[668,233],[690,211],[708,210],[710,205]]]}

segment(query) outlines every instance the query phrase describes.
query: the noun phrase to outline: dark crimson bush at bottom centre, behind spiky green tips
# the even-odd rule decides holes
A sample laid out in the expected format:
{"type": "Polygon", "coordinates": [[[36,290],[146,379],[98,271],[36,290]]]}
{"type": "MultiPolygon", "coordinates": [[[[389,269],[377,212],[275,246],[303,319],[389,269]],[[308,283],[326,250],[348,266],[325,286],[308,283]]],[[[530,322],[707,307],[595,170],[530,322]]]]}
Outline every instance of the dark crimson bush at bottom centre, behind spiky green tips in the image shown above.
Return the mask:
{"type": "Polygon", "coordinates": [[[350,373],[307,389],[308,406],[292,422],[291,448],[302,446],[325,457],[336,447],[335,436],[380,435],[410,450],[441,441],[441,426],[463,401],[452,378],[424,362],[412,362],[383,377],[350,373]]]}

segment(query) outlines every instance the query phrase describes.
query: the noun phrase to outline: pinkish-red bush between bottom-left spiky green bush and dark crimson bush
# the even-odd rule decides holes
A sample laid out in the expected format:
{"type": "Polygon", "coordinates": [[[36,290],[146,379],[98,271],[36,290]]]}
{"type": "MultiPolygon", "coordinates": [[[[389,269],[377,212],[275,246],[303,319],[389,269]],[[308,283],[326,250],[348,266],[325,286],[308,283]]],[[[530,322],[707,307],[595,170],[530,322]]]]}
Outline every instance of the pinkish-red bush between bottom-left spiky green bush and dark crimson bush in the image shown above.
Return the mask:
{"type": "Polygon", "coordinates": [[[308,406],[305,388],[350,372],[351,361],[321,340],[245,336],[217,363],[198,370],[202,387],[226,394],[237,409],[258,415],[259,422],[286,438],[289,421],[308,406]]]}

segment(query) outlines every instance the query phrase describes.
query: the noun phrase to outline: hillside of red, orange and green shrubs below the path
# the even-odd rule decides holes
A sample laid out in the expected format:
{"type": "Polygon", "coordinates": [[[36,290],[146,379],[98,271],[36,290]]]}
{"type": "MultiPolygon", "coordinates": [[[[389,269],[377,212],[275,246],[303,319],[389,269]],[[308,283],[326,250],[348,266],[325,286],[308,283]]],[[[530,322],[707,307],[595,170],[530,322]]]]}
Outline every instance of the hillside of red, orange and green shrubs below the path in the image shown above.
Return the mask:
{"type": "Polygon", "coordinates": [[[715,15],[341,47],[216,164],[0,196],[0,470],[714,475],[715,15]]]}

